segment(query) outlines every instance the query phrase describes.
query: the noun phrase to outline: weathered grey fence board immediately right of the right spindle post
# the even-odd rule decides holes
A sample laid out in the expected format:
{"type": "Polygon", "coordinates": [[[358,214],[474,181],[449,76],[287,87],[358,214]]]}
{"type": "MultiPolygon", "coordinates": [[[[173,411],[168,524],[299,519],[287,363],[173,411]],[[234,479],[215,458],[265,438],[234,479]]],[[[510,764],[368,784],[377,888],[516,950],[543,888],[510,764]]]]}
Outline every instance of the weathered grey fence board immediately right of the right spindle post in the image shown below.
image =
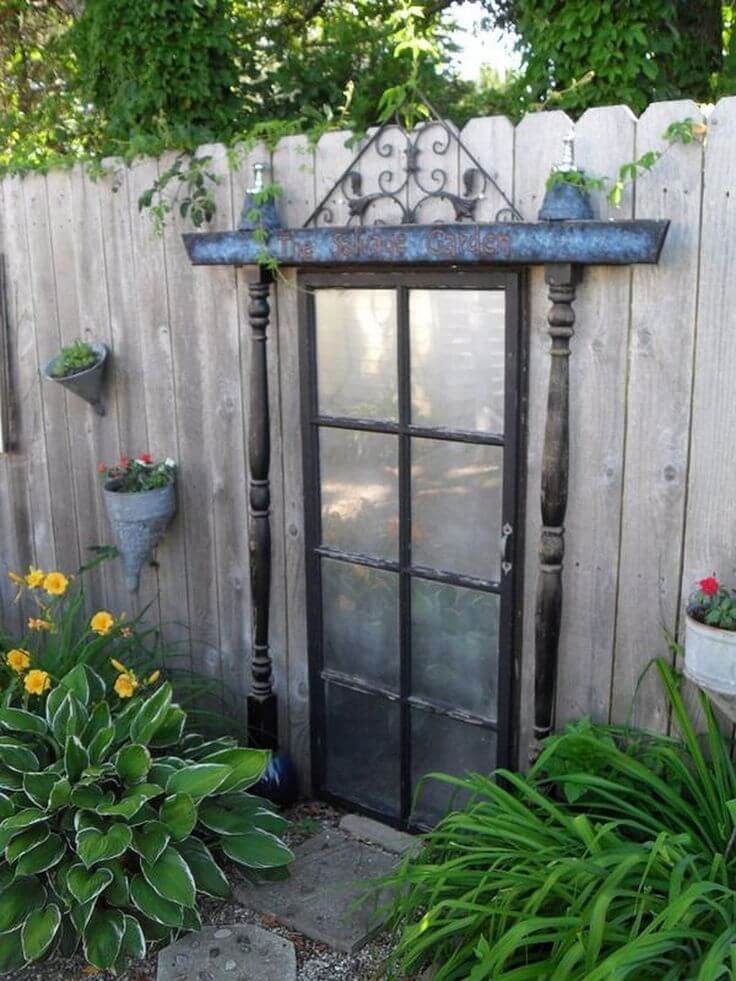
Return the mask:
{"type": "MultiPolygon", "coordinates": [[[[635,156],[636,119],[624,106],[589,109],[575,126],[578,160],[591,174],[614,175],[635,156]]],[[[619,209],[605,195],[601,218],[632,217],[632,194],[619,209]]],[[[557,722],[586,713],[608,718],[616,616],[621,484],[624,465],[630,269],[585,270],[571,343],[570,484],[565,600],[560,634],[557,722]],[[605,558],[604,558],[605,556],[605,558]],[[579,575],[585,569],[586,574],[579,575]],[[578,651],[585,650],[580,659],[578,651]]]]}

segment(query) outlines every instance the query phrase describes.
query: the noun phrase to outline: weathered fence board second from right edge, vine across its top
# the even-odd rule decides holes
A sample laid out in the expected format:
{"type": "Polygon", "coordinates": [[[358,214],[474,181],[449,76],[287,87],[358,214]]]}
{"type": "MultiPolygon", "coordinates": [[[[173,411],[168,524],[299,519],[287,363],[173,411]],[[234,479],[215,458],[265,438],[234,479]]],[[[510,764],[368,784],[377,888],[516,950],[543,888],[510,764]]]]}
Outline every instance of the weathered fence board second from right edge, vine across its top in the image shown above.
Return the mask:
{"type": "MultiPolygon", "coordinates": [[[[650,106],[637,125],[637,155],[662,149],[669,123],[701,118],[688,101],[650,106]]],[[[636,188],[636,213],[671,219],[656,269],[633,270],[614,684],[611,714],[660,729],[667,712],[651,658],[675,634],[682,578],[692,397],[703,149],[675,145],[636,188]]]]}

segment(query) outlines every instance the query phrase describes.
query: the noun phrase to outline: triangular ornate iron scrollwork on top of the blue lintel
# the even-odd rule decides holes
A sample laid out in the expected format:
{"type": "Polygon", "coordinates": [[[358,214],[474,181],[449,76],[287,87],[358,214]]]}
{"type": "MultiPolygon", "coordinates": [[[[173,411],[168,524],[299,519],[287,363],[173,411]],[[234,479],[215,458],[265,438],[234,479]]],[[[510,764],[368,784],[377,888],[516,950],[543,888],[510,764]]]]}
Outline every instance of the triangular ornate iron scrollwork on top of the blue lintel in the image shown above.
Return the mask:
{"type": "Polygon", "coordinates": [[[336,194],[341,197],[340,204],[347,208],[347,225],[388,224],[383,217],[370,220],[371,212],[379,202],[387,202],[395,209],[396,224],[426,224],[426,206],[436,201],[449,205],[449,213],[436,221],[471,222],[475,220],[478,202],[483,200],[490,188],[504,202],[495,220],[522,221],[513,201],[463,143],[459,132],[440,119],[429,103],[426,103],[426,108],[430,118],[411,131],[404,129],[397,121],[387,121],[380,126],[322,198],[304,227],[336,223],[333,202],[336,194]],[[428,171],[421,166],[422,155],[427,150],[431,151],[434,164],[428,171]],[[460,160],[469,161],[460,175],[460,193],[450,186],[449,167],[437,163],[438,157],[449,156],[451,152],[459,152],[460,160]],[[375,169],[376,158],[389,163],[378,171],[373,187],[369,188],[366,187],[365,173],[360,165],[370,161],[371,156],[371,170],[375,169]]]}

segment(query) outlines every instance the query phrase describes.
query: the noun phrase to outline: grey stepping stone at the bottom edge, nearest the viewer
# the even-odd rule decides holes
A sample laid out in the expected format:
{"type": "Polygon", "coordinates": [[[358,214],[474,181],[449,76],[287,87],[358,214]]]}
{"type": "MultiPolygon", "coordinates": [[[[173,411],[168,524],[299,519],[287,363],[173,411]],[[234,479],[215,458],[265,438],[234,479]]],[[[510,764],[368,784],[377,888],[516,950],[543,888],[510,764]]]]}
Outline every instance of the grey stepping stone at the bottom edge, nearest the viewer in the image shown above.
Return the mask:
{"type": "Polygon", "coordinates": [[[296,951],[251,924],[205,927],[161,951],[156,981],[296,981],[296,951]]]}

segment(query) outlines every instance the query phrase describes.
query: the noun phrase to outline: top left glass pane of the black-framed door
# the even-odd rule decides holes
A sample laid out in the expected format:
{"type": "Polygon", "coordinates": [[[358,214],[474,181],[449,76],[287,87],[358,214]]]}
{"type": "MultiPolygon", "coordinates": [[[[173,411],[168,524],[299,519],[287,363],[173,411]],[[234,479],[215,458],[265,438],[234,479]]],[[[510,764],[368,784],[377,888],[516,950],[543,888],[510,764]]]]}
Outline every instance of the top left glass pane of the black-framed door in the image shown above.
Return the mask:
{"type": "Polygon", "coordinates": [[[317,290],[315,308],[319,411],[396,420],[396,292],[317,290]]]}

